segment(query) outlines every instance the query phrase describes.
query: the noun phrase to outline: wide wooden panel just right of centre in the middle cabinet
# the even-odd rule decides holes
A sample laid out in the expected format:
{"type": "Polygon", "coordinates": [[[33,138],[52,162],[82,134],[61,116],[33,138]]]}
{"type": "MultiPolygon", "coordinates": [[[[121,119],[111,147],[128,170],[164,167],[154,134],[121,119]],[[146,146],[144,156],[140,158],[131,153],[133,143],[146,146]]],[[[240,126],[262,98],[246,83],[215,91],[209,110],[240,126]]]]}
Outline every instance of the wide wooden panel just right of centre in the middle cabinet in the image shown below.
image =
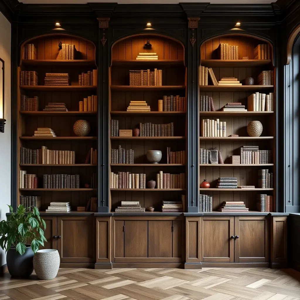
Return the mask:
{"type": "Polygon", "coordinates": [[[148,221],[148,257],[172,257],[172,221],[148,221]]]}

